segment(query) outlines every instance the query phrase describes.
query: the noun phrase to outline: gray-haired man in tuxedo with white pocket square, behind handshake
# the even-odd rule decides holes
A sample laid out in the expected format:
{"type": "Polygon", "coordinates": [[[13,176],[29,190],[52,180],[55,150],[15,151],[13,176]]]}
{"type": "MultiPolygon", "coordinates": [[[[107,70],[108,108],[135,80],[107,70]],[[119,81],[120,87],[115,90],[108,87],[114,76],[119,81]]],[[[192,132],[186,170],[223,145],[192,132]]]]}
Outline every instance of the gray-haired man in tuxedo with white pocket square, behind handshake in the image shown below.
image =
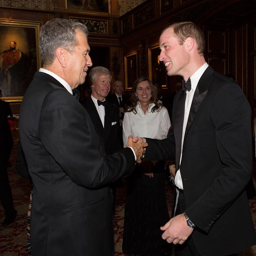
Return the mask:
{"type": "MultiPolygon", "coordinates": [[[[89,84],[92,95],[83,104],[91,120],[101,135],[107,155],[121,149],[119,138],[119,109],[106,101],[106,96],[111,87],[111,74],[105,67],[94,67],[89,73],[89,84]]],[[[113,210],[115,210],[116,186],[122,184],[122,178],[111,184],[113,192],[113,210]]]]}

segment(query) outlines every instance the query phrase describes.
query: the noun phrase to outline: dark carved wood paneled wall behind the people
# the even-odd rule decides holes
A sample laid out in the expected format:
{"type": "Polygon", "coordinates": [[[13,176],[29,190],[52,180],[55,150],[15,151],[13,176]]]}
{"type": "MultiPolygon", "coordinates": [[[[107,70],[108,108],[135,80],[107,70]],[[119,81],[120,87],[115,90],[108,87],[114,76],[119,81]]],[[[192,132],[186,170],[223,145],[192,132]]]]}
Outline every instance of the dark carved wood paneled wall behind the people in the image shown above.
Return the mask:
{"type": "MultiPolygon", "coordinates": [[[[47,0],[48,1],[48,0],[47,0]]],[[[65,1],[55,1],[51,10],[0,7],[6,20],[46,21],[54,17],[81,20],[105,20],[107,33],[90,33],[94,66],[104,65],[113,78],[125,80],[125,56],[137,52],[138,76],[149,76],[148,49],[159,43],[161,31],[177,21],[193,21],[202,28],[206,39],[205,59],[220,73],[231,73],[245,93],[252,116],[256,114],[256,2],[255,0],[147,0],[119,17],[117,0],[111,1],[112,13],[68,10],[65,1]],[[168,5],[164,5],[168,3],[168,5]],[[102,51],[97,49],[102,48],[102,51]],[[94,52],[96,51],[96,52],[94,52]]],[[[167,78],[165,94],[174,92],[179,76],[167,78]]],[[[129,94],[127,90],[125,93],[129,94]]],[[[13,110],[19,108],[12,102],[13,110]]]]}

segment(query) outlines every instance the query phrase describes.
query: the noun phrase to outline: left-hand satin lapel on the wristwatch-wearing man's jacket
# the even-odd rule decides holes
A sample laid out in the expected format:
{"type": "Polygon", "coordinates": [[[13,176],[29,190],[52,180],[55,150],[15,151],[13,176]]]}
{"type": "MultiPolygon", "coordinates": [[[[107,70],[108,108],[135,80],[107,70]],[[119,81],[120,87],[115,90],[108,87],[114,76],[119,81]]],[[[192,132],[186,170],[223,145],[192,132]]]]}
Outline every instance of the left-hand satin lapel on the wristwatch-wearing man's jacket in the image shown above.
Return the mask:
{"type": "Polygon", "coordinates": [[[185,108],[185,99],[186,94],[183,92],[180,93],[177,111],[173,116],[173,133],[175,137],[175,160],[176,160],[176,169],[179,169],[180,166],[180,152],[181,152],[181,139],[182,139],[182,128],[184,121],[184,108],[185,108]]]}

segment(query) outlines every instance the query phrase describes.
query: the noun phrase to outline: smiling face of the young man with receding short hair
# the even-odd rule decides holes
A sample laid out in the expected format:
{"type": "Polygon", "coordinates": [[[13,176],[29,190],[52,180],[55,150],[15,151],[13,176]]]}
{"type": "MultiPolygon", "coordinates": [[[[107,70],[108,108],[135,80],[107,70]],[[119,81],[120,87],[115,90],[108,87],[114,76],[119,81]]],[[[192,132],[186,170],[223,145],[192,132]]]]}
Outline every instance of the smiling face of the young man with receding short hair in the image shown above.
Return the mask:
{"type": "Polygon", "coordinates": [[[186,44],[179,44],[173,28],[168,28],[160,36],[160,61],[164,62],[168,76],[181,75],[187,71],[189,55],[186,44]]]}

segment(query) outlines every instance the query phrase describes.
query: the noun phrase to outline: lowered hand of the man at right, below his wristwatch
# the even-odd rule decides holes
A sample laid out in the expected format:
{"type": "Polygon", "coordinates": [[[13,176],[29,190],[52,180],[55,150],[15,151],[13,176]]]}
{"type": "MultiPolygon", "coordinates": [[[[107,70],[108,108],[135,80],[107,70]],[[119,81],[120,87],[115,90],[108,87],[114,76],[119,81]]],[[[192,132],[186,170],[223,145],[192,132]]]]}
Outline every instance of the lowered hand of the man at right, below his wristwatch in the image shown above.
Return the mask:
{"type": "Polygon", "coordinates": [[[193,228],[187,225],[184,214],[179,214],[171,218],[163,227],[162,238],[168,243],[183,244],[193,232],[193,228]]]}

